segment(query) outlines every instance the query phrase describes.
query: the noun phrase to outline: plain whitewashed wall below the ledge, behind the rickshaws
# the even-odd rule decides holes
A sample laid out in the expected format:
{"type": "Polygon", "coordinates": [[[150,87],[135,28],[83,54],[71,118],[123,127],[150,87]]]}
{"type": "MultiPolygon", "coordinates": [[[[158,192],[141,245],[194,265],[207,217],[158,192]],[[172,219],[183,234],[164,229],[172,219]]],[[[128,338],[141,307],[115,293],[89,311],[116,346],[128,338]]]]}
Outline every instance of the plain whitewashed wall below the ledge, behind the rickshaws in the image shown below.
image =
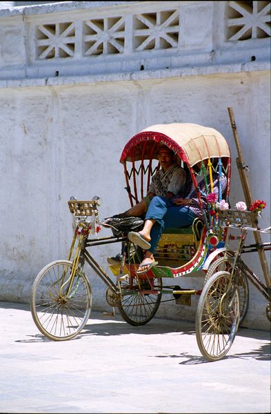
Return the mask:
{"type": "MultiPolygon", "coordinates": [[[[129,206],[119,157],[126,141],[157,123],[194,122],[219,130],[233,159],[231,201],[243,200],[234,159],[228,106],[237,122],[254,198],[270,206],[270,76],[268,72],[159,81],[97,83],[70,87],[0,90],[1,101],[1,290],[2,300],[28,302],[30,286],[48,262],[66,258],[71,242],[70,195],[100,195],[100,217],[129,206]]],[[[263,213],[263,226],[270,222],[263,213]]],[[[101,235],[107,235],[103,230],[101,235]]],[[[119,253],[112,245],[95,255],[119,253]]],[[[259,260],[250,259],[255,270],[259,260]]],[[[94,308],[107,308],[105,286],[91,275],[94,308]]],[[[170,281],[171,283],[172,281],[170,281]]],[[[183,287],[202,279],[183,277],[183,287]]],[[[248,326],[267,326],[264,301],[251,287],[248,326]]],[[[196,299],[195,299],[196,300],[196,299]]],[[[191,308],[163,305],[160,315],[194,318],[191,308]]]]}

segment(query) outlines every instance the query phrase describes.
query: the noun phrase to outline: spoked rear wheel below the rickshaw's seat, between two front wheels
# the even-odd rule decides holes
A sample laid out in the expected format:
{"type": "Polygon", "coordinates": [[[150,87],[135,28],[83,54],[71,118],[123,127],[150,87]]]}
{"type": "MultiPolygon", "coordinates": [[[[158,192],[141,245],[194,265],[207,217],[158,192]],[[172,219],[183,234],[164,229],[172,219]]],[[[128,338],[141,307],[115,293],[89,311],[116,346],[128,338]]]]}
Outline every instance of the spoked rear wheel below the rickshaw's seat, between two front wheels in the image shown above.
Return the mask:
{"type": "Polygon", "coordinates": [[[128,324],[145,325],[154,317],[162,296],[161,277],[130,276],[121,282],[119,312],[128,324]]]}

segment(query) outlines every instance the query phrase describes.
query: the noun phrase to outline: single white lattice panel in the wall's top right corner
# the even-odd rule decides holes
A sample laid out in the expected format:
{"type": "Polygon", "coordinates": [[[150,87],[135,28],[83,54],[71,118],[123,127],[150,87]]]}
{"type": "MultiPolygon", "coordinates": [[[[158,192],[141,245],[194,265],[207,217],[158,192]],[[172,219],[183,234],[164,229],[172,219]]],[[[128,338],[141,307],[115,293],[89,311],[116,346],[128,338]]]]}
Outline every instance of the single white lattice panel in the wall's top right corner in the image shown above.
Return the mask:
{"type": "Polygon", "coordinates": [[[230,41],[270,37],[270,1],[229,1],[227,17],[230,41]]]}

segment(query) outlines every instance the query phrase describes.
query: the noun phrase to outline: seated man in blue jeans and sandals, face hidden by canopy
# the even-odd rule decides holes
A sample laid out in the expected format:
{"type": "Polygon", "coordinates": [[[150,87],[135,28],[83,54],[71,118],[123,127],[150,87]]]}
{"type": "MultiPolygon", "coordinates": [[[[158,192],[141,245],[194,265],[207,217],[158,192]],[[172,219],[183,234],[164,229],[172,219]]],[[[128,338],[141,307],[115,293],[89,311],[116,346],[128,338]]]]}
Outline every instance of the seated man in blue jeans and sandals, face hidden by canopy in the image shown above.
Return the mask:
{"type": "MultiPolygon", "coordinates": [[[[207,162],[207,160],[205,161],[207,162]]],[[[200,165],[201,162],[197,164],[197,168],[200,168],[200,165]]],[[[212,177],[213,193],[218,195],[219,174],[215,172],[212,177]]],[[[210,187],[209,176],[207,177],[207,183],[210,187]]],[[[221,177],[221,184],[223,193],[227,185],[225,175],[221,177]]],[[[204,179],[199,182],[198,187],[200,191],[206,191],[204,179]]],[[[208,208],[208,201],[205,196],[202,196],[201,199],[203,201],[203,208],[206,210],[208,208]]],[[[128,238],[131,242],[146,250],[137,273],[145,273],[152,266],[158,264],[158,262],[155,262],[153,254],[164,228],[188,226],[192,224],[196,217],[203,219],[196,190],[192,190],[186,197],[174,197],[174,199],[154,197],[145,215],[143,230],[138,233],[128,233],[128,238]]]]}

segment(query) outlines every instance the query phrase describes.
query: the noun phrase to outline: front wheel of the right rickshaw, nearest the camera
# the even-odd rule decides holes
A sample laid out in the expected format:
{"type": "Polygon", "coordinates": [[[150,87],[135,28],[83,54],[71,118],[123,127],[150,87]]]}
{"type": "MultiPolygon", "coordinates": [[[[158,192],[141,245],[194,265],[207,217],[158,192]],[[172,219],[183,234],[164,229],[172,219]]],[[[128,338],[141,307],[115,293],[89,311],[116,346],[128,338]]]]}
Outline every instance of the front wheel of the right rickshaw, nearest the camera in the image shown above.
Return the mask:
{"type": "Polygon", "coordinates": [[[222,359],[230,350],[239,326],[239,292],[230,273],[214,273],[203,287],[196,314],[199,350],[208,361],[222,359]]]}

